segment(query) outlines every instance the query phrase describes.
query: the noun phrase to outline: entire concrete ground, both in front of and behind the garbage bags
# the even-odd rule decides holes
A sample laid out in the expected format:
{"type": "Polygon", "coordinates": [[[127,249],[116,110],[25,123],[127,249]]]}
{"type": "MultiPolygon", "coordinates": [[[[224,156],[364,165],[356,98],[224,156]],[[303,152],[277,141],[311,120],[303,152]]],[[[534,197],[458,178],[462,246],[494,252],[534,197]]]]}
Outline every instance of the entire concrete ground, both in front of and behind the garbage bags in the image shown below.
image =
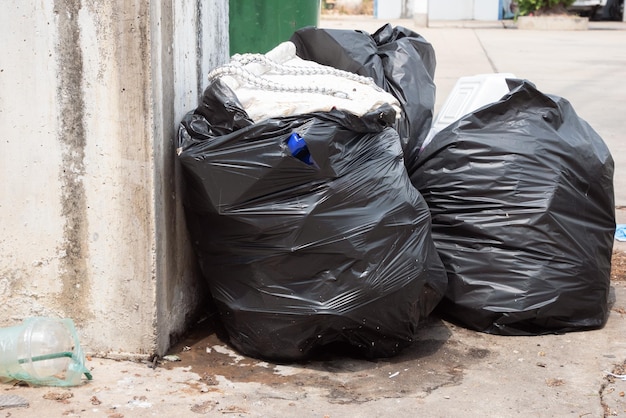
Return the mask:
{"type": "MultiPolygon", "coordinates": [[[[320,26],[373,32],[383,23],[323,17],[320,26]]],[[[626,24],[554,32],[510,22],[390,23],[433,44],[436,110],[459,77],[491,72],[512,72],[569,99],[612,151],[618,222],[626,223],[626,24]]],[[[502,337],[431,318],[415,344],[391,359],[273,364],[237,354],[206,320],[172,348],[171,361],[89,357],[94,380],[79,387],[0,384],[0,418],[626,416],[626,381],[608,375],[626,372],[626,258],[614,260],[621,273],[601,330],[502,337]],[[2,406],[16,397],[29,406],[2,406]]]]}

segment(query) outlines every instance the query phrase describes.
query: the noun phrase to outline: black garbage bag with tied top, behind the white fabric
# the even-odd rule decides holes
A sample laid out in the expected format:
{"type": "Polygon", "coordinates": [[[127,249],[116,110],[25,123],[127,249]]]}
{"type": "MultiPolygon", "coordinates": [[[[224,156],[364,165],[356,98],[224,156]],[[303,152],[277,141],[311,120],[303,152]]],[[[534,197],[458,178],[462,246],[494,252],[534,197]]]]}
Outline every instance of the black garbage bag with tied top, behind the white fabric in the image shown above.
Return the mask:
{"type": "Polygon", "coordinates": [[[306,27],[291,39],[300,58],[371,77],[400,102],[394,125],[413,172],[419,149],[430,130],[435,106],[435,51],[421,35],[386,24],[373,35],[360,30],[306,27]]]}

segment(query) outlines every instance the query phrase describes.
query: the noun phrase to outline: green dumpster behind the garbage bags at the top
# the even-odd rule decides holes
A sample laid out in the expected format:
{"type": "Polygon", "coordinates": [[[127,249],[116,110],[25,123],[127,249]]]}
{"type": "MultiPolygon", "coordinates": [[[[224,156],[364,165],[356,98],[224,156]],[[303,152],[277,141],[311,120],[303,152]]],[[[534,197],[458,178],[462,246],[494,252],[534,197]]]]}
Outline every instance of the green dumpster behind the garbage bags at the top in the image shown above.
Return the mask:
{"type": "Polygon", "coordinates": [[[230,0],[230,55],[266,53],[305,26],[317,26],[321,0],[230,0]]]}

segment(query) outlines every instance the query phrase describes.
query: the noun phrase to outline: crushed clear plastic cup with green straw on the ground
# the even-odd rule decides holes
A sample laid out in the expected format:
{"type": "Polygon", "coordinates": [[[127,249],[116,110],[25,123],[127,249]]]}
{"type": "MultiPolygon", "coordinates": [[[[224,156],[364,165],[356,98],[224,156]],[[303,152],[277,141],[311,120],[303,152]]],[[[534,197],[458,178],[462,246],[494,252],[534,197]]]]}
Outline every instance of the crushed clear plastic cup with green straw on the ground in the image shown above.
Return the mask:
{"type": "Polygon", "coordinates": [[[0,380],[37,386],[76,386],[85,355],[71,319],[32,317],[0,329],[0,380]]]}

